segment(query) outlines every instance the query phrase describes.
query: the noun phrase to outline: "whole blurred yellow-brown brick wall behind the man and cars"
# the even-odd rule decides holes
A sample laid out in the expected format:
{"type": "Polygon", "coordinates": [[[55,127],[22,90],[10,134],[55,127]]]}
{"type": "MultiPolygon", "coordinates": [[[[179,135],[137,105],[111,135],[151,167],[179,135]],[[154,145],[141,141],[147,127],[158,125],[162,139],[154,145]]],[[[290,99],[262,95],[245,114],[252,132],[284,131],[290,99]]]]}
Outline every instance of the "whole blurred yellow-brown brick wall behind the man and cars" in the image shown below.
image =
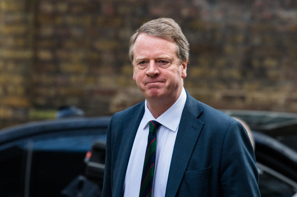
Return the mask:
{"type": "Polygon", "coordinates": [[[128,40],[159,17],[189,40],[184,87],[197,100],[297,112],[295,0],[1,0],[0,128],[61,106],[101,116],[143,101],[128,40]]]}

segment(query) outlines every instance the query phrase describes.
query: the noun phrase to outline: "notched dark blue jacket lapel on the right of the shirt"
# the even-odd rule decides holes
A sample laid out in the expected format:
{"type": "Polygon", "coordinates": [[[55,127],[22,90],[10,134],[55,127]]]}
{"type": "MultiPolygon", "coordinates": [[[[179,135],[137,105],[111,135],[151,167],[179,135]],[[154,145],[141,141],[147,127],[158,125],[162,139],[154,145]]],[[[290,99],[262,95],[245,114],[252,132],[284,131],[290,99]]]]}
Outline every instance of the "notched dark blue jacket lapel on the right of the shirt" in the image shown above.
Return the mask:
{"type": "Polygon", "coordinates": [[[187,101],[183,109],[174,143],[165,197],[174,197],[183,179],[188,162],[204,125],[203,122],[197,119],[200,113],[202,113],[202,108],[198,104],[198,101],[187,93],[187,101]]]}

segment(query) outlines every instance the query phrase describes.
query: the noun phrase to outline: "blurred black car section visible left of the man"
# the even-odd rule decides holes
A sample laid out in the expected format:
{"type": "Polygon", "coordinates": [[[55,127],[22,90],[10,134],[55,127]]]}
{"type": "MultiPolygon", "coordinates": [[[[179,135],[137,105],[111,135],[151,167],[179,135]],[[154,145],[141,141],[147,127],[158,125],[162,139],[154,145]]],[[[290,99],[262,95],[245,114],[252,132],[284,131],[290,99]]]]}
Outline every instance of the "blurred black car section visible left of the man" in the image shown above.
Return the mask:
{"type": "Polygon", "coordinates": [[[32,122],[0,131],[0,196],[59,196],[79,174],[110,117],[32,122]]]}

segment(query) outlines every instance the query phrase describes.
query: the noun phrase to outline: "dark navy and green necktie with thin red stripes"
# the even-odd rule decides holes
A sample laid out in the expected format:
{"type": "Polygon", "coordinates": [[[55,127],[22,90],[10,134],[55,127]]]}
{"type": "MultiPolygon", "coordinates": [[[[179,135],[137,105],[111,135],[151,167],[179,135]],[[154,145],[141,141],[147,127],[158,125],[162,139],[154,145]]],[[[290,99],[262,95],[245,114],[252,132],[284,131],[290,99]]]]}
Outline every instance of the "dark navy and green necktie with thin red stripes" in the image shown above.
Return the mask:
{"type": "Polygon", "coordinates": [[[149,121],[148,145],[144,157],[139,197],[151,197],[156,159],[157,129],[161,126],[157,121],[149,121]]]}

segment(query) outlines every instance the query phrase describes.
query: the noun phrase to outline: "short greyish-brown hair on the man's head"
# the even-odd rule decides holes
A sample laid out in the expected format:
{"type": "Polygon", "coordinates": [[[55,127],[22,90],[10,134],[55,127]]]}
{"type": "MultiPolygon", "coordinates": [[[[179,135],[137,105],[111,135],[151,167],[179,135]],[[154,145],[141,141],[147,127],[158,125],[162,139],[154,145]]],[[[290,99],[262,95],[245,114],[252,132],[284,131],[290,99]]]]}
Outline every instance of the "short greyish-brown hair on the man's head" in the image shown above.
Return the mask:
{"type": "Polygon", "coordinates": [[[136,38],[141,33],[147,35],[164,38],[166,40],[174,41],[177,46],[177,56],[180,62],[189,59],[189,42],[179,26],[172,18],[158,18],[144,23],[135,33],[130,37],[129,42],[129,57],[133,61],[133,46],[136,38]]]}

